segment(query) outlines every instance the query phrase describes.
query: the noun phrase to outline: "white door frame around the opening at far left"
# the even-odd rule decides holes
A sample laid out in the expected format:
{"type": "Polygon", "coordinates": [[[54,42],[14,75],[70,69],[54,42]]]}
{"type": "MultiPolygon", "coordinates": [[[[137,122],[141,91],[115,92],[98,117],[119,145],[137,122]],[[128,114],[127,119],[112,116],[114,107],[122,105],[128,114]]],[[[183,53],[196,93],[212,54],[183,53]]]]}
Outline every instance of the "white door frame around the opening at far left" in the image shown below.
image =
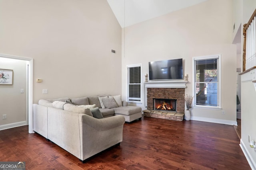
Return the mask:
{"type": "Polygon", "coordinates": [[[28,61],[28,90],[27,90],[27,96],[28,96],[28,103],[26,104],[28,106],[28,133],[34,133],[33,131],[33,59],[27,58],[27,57],[19,57],[14,55],[6,55],[6,54],[0,54],[0,57],[8,58],[8,59],[17,59],[17,60],[24,60],[28,61]]]}

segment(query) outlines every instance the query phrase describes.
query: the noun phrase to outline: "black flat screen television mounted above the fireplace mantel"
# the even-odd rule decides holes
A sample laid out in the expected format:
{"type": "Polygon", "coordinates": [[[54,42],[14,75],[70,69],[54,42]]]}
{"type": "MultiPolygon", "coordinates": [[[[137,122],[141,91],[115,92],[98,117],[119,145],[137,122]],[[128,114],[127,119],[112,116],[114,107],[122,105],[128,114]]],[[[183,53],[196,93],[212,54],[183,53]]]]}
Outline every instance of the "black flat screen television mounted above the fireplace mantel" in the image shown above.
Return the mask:
{"type": "Polygon", "coordinates": [[[149,80],[183,79],[182,59],[148,63],[149,80]]]}

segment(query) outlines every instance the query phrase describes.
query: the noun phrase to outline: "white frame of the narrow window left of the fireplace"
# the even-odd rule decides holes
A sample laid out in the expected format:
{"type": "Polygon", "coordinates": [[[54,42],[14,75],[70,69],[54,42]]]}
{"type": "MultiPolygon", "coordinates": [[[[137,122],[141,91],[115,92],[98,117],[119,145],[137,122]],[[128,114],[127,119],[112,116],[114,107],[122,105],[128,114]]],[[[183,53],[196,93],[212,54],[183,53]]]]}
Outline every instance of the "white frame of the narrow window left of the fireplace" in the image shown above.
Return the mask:
{"type": "Polygon", "coordinates": [[[130,102],[130,103],[140,103],[142,104],[142,67],[141,67],[142,64],[132,64],[132,65],[127,65],[126,66],[126,102],[130,102]],[[130,97],[129,97],[129,68],[132,68],[132,67],[140,67],[140,101],[134,101],[134,100],[130,100],[130,97]]]}

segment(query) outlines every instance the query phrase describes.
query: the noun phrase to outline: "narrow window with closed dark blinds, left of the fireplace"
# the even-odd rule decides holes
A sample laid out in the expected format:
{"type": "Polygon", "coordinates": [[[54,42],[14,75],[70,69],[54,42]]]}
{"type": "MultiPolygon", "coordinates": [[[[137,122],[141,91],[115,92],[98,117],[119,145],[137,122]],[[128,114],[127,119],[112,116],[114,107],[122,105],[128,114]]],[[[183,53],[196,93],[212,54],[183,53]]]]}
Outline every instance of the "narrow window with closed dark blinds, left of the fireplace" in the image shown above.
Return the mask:
{"type": "Polygon", "coordinates": [[[141,65],[127,66],[127,101],[141,103],[141,65]]]}

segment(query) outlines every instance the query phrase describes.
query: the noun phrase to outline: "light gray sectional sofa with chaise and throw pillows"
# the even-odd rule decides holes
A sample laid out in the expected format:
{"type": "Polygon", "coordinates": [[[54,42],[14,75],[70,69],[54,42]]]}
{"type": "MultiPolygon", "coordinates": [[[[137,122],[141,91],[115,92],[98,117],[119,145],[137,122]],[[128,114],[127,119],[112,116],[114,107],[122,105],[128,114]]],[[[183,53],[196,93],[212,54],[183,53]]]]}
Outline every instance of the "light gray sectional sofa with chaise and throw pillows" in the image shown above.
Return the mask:
{"type": "Polygon", "coordinates": [[[33,104],[33,130],[86,162],[122,142],[125,121],[141,119],[140,107],[127,106],[119,96],[114,97],[39,100],[33,104]],[[103,118],[95,118],[93,109],[100,110],[103,118]]]}

